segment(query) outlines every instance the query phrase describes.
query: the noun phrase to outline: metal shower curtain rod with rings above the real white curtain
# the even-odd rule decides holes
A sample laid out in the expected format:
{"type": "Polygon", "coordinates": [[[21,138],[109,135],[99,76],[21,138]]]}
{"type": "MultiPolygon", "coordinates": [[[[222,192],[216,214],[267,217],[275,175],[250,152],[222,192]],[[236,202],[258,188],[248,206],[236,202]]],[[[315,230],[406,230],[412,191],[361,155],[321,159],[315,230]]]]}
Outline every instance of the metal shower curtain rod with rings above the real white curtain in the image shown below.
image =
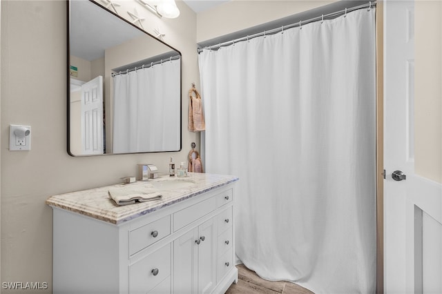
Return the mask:
{"type": "Polygon", "coordinates": [[[211,45],[211,46],[205,46],[203,48],[198,48],[198,54],[200,54],[204,49],[206,50],[218,50],[221,47],[226,47],[226,46],[231,46],[234,45],[235,43],[241,42],[241,41],[249,41],[250,39],[256,38],[256,37],[261,37],[261,36],[265,36],[265,35],[274,35],[278,32],[283,32],[284,30],[287,30],[289,28],[296,28],[296,27],[302,27],[303,25],[307,24],[307,23],[313,23],[315,21],[324,21],[324,19],[334,19],[336,17],[340,17],[341,15],[346,15],[347,12],[352,12],[354,10],[359,10],[359,9],[363,9],[363,8],[368,8],[371,9],[372,7],[376,7],[376,1],[369,1],[365,4],[362,4],[360,6],[354,6],[352,8],[345,8],[344,10],[339,10],[336,12],[332,12],[329,14],[322,14],[319,17],[314,17],[312,19],[307,19],[305,21],[298,21],[297,23],[291,23],[287,26],[281,26],[279,28],[273,28],[271,30],[265,30],[264,32],[258,32],[254,35],[247,35],[246,37],[241,37],[238,39],[233,39],[232,41],[226,41],[224,43],[218,43],[215,45],[211,45]]]}

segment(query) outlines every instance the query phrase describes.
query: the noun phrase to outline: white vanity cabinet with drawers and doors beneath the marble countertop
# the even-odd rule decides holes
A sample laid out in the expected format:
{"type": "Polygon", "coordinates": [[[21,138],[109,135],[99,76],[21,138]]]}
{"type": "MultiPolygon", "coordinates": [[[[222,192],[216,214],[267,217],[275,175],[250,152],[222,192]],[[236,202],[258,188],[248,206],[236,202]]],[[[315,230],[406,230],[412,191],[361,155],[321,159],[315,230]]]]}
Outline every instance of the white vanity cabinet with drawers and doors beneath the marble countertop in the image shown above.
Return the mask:
{"type": "Polygon", "coordinates": [[[233,184],[120,224],[51,206],[55,294],[224,293],[238,279],[233,184]]]}

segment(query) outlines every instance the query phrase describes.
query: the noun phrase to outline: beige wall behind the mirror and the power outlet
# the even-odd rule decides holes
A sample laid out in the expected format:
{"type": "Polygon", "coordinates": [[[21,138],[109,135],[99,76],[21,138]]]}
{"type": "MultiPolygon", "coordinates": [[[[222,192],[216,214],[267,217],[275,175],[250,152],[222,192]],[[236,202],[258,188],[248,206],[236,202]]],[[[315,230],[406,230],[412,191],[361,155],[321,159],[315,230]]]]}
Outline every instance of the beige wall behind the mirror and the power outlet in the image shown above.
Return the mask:
{"type": "MultiPolygon", "coordinates": [[[[120,177],[135,175],[139,163],[153,163],[166,172],[170,156],[185,161],[191,142],[199,146],[198,134],[186,129],[187,91],[199,79],[196,16],[183,3],[177,4],[180,18],[158,19],[146,10],[144,27],[148,32],[160,28],[164,40],[183,55],[182,151],[70,157],[66,3],[1,1],[1,282],[52,284],[52,210],[44,204],[47,197],[115,184],[120,177]],[[8,150],[9,124],[32,126],[30,151],[8,150]]],[[[137,8],[140,14],[143,10],[137,8]]],[[[120,14],[128,16],[125,10],[120,14]]]]}

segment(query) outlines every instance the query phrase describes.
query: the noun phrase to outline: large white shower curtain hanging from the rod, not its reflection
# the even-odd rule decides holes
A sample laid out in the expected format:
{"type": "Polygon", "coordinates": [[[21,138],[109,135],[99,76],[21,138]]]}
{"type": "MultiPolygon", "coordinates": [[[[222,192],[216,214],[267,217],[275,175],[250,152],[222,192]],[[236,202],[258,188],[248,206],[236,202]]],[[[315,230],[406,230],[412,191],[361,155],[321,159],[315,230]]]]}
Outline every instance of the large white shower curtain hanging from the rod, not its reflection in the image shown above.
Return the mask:
{"type": "Polygon", "coordinates": [[[206,171],[240,178],[236,253],[267,280],[375,291],[374,16],[200,53],[206,171]]]}

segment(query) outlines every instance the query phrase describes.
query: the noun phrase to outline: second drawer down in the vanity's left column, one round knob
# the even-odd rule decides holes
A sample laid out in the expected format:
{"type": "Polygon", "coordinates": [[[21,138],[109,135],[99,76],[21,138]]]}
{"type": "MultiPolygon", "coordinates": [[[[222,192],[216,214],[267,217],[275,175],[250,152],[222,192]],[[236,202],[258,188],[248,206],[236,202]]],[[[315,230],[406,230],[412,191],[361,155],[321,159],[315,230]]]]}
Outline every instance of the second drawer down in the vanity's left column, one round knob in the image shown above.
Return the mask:
{"type": "Polygon", "coordinates": [[[156,286],[163,288],[166,285],[162,282],[170,276],[171,244],[167,244],[129,266],[129,292],[148,293],[156,286]]]}

